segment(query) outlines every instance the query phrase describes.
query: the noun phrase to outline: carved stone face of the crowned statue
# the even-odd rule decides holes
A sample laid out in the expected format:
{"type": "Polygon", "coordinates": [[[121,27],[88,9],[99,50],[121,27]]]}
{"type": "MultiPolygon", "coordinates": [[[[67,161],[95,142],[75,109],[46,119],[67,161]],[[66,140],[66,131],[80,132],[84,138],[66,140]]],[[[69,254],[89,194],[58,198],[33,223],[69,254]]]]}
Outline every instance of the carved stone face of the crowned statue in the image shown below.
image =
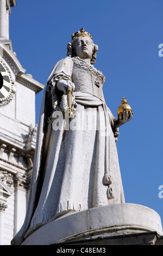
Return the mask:
{"type": "Polygon", "coordinates": [[[88,36],[79,36],[74,46],[74,50],[79,58],[91,59],[93,52],[93,45],[91,39],[88,36]]]}

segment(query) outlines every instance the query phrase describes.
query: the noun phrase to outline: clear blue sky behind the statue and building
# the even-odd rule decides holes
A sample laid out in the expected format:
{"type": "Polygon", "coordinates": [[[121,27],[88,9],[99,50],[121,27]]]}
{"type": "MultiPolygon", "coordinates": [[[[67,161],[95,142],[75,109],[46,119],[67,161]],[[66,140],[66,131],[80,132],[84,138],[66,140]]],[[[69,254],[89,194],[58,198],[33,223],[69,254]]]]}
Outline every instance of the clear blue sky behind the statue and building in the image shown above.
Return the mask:
{"type": "MultiPolygon", "coordinates": [[[[66,57],[71,34],[84,27],[92,35],[108,107],[117,115],[125,96],[134,112],[117,142],[126,202],[152,208],[163,221],[162,13],[162,0],[17,0],[10,39],[27,74],[46,84],[55,63],[66,57]]],[[[41,100],[42,92],[36,95],[36,123],[41,100]]]]}

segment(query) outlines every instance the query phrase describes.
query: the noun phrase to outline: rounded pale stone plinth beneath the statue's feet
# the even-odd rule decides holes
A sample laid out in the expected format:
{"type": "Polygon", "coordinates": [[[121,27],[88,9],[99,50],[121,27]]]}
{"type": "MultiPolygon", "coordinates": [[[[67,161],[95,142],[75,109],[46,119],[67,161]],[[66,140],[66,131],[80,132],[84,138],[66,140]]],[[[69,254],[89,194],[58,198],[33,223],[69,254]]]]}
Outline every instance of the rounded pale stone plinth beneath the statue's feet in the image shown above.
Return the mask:
{"type": "Polygon", "coordinates": [[[64,215],[35,230],[22,245],[77,245],[83,240],[151,231],[162,236],[161,219],[154,210],[137,204],[114,204],[64,215]]]}

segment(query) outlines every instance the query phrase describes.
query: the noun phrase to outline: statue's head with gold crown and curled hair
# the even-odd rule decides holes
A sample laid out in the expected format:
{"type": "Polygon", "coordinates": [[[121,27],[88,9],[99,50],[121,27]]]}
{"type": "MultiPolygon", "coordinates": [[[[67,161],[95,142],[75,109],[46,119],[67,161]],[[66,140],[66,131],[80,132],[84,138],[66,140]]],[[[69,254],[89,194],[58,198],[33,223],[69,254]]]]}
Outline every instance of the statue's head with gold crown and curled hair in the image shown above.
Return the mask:
{"type": "Polygon", "coordinates": [[[78,56],[82,59],[90,58],[91,64],[95,64],[98,46],[93,44],[92,36],[85,32],[84,28],[81,28],[71,37],[72,41],[67,44],[67,56],[78,56]]]}

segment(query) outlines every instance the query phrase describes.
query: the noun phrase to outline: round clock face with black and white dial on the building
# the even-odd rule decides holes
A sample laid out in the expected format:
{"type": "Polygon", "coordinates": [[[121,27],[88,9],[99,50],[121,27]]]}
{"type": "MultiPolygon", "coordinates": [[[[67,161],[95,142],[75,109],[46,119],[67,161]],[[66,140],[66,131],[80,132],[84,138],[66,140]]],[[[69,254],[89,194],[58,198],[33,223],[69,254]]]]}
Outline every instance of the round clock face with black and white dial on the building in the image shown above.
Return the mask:
{"type": "Polygon", "coordinates": [[[0,102],[9,99],[12,93],[12,80],[7,66],[0,60],[0,102]]]}

